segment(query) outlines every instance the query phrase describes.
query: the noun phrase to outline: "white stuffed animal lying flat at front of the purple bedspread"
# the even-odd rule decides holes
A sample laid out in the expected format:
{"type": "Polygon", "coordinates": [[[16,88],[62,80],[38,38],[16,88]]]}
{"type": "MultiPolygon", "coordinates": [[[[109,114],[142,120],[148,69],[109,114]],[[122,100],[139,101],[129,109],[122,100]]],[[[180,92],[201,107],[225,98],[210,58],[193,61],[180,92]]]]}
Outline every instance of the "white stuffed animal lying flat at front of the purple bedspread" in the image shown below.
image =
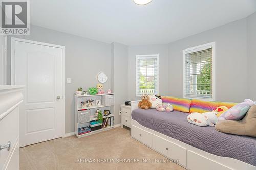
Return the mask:
{"type": "Polygon", "coordinates": [[[214,127],[218,118],[215,115],[215,112],[206,112],[206,113],[191,113],[187,116],[187,121],[191,124],[197,126],[211,126],[214,127]]]}

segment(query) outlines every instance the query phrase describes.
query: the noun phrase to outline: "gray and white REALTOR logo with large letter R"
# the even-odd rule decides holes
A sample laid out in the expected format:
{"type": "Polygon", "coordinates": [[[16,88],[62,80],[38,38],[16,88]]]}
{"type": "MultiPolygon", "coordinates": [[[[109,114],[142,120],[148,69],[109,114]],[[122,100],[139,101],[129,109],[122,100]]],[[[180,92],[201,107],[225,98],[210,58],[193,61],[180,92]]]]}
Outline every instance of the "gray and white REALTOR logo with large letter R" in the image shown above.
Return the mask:
{"type": "Polygon", "coordinates": [[[1,1],[1,35],[29,35],[29,1],[1,1]]]}

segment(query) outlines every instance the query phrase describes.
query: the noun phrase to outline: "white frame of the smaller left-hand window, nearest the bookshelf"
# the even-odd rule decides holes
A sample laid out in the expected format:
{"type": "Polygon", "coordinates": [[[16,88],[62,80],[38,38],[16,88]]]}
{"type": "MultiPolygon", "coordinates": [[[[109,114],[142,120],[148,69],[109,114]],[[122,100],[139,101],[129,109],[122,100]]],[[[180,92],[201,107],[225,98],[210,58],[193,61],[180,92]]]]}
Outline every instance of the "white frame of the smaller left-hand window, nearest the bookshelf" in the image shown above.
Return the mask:
{"type": "Polygon", "coordinates": [[[136,55],[136,97],[141,97],[141,94],[138,94],[138,59],[157,59],[157,93],[159,92],[159,54],[145,54],[145,55],[136,55]]]}

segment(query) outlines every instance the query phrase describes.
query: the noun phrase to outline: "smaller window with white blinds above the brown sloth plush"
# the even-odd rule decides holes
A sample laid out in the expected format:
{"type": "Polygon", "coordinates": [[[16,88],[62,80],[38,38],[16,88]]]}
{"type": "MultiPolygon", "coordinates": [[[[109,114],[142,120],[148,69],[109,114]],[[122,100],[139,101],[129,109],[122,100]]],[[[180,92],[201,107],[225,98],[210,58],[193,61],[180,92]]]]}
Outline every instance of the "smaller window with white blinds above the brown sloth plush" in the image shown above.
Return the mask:
{"type": "Polygon", "coordinates": [[[158,56],[136,55],[136,96],[158,94],[158,56]]]}

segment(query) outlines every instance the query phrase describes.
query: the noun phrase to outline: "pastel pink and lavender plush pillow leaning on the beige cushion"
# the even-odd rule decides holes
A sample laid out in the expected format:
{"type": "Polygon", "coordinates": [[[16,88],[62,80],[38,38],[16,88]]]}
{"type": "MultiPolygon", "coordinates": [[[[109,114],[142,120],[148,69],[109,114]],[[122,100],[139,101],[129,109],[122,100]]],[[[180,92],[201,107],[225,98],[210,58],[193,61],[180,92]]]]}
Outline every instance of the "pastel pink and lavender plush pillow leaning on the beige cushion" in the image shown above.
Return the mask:
{"type": "Polygon", "coordinates": [[[218,117],[218,121],[222,120],[240,120],[244,117],[247,111],[250,109],[252,105],[255,105],[250,99],[245,99],[244,102],[239,103],[227,111],[225,111],[220,117],[218,117]]]}

